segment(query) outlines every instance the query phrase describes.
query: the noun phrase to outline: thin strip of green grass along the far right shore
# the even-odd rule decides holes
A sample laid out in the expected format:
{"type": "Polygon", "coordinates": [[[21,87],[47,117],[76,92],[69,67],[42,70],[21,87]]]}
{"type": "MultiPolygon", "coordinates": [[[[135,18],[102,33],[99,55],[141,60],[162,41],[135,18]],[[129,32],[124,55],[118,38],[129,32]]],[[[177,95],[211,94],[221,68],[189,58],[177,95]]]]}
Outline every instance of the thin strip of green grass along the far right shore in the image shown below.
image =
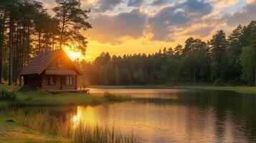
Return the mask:
{"type": "Polygon", "coordinates": [[[215,86],[178,86],[174,89],[206,89],[206,90],[226,90],[240,92],[244,94],[256,94],[256,87],[215,87],[215,86]]]}

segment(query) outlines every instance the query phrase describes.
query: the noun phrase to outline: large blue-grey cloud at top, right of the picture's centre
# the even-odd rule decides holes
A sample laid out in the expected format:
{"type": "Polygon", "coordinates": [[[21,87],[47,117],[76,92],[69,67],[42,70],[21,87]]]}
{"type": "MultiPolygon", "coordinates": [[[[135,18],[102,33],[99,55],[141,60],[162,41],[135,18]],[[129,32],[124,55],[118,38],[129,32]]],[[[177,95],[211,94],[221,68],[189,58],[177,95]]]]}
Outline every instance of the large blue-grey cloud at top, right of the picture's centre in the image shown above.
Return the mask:
{"type": "Polygon", "coordinates": [[[205,1],[188,0],[175,6],[166,6],[148,19],[153,40],[171,41],[179,27],[187,27],[193,21],[212,12],[212,5],[205,1]]]}

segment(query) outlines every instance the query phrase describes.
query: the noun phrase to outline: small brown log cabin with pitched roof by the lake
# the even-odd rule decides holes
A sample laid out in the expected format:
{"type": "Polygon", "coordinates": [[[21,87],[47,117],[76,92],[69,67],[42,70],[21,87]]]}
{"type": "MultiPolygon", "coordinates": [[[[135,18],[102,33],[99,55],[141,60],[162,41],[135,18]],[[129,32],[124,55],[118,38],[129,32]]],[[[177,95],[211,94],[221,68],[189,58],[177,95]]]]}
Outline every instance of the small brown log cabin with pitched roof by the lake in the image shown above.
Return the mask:
{"type": "Polygon", "coordinates": [[[77,76],[82,74],[63,49],[46,50],[20,72],[24,85],[49,92],[77,91],[77,76]]]}

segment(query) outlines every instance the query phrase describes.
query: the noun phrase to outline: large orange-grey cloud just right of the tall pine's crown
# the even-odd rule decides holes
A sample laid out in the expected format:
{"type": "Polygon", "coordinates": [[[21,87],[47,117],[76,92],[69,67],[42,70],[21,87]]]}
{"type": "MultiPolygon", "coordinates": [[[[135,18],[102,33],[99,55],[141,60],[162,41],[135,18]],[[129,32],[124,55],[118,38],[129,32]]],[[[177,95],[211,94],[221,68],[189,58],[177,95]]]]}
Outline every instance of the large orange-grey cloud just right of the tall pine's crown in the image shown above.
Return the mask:
{"type": "Polygon", "coordinates": [[[146,14],[134,9],[115,16],[100,14],[90,19],[94,28],[87,31],[87,36],[101,43],[120,43],[125,36],[139,38],[146,26],[146,14]]]}

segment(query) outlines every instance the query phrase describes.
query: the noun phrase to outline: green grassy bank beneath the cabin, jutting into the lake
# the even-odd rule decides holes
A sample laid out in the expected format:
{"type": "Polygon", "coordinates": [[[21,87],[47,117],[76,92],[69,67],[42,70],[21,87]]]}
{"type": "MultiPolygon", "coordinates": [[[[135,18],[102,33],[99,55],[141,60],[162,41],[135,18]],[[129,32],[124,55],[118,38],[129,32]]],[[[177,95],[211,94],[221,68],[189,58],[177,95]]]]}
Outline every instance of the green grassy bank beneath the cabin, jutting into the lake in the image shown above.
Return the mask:
{"type": "Polygon", "coordinates": [[[51,94],[45,90],[31,90],[28,88],[10,87],[0,85],[0,108],[13,106],[68,106],[68,105],[94,105],[106,102],[130,101],[131,97],[118,97],[115,94],[105,93],[103,97],[80,92],[65,92],[51,94]],[[1,96],[1,95],[0,95],[1,96]]]}

